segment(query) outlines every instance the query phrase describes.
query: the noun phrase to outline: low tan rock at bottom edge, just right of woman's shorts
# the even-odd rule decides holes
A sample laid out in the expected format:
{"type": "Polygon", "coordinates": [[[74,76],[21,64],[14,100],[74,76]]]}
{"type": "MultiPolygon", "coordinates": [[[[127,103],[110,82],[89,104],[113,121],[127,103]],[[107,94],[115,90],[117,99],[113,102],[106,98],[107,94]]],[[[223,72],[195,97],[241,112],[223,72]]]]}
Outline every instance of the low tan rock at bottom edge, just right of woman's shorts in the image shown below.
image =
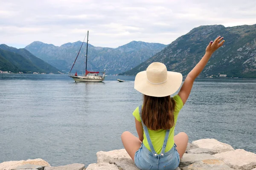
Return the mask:
{"type": "Polygon", "coordinates": [[[218,159],[208,159],[204,161],[196,161],[182,170],[233,170],[227,166],[224,161],[218,159]]]}

